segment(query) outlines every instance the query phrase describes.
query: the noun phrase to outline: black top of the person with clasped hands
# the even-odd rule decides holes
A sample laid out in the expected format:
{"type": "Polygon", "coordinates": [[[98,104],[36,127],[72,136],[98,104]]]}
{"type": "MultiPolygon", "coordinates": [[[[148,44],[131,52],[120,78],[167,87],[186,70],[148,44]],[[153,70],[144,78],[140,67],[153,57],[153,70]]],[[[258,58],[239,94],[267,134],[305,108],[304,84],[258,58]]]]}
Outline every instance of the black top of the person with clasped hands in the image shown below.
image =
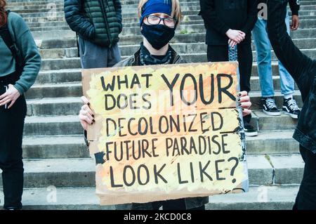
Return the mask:
{"type": "Polygon", "coordinates": [[[206,27],[206,44],[228,44],[228,29],[246,33],[242,43],[251,42],[251,30],[257,21],[257,0],[199,0],[206,27]]]}

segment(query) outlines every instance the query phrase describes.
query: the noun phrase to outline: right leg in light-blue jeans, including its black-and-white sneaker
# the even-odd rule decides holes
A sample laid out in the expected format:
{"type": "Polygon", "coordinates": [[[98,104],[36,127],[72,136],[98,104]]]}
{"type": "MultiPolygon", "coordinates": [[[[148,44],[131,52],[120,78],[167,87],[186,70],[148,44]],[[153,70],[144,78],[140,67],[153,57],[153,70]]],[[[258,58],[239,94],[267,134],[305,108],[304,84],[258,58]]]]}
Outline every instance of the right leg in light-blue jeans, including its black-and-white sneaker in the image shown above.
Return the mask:
{"type": "MultiPolygon", "coordinates": [[[[287,17],[285,18],[285,24],[287,25],[287,33],[290,34],[290,22],[289,13],[287,12],[287,17]]],[[[287,69],[279,61],[279,78],[281,81],[281,93],[284,95],[284,101],[282,110],[285,114],[289,114],[292,118],[298,119],[298,114],[300,110],[296,101],[293,98],[293,93],[295,91],[294,79],[287,69]]]]}

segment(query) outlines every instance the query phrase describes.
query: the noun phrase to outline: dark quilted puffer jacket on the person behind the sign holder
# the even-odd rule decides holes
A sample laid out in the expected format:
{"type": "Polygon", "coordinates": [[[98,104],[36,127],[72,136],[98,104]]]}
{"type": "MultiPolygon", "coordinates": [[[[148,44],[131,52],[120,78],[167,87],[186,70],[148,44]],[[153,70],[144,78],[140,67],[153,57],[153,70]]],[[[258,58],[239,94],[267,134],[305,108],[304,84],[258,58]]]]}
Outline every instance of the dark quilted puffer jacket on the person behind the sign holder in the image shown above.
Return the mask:
{"type": "Polygon", "coordinates": [[[64,11],[68,25],[79,37],[106,47],[119,41],[119,0],[65,0],[64,11]]]}

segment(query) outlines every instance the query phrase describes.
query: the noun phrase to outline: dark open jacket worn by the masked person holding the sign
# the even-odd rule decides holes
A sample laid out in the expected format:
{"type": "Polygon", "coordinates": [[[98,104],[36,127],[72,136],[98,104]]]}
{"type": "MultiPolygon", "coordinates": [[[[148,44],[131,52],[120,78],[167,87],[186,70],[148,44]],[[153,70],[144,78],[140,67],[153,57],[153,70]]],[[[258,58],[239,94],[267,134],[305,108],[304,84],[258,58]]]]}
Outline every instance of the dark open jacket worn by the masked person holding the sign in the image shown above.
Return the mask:
{"type": "MultiPolygon", "coordinates": [[[[171,64],[183,64],[187,63],[183,58],[176,53],[176,51],[171,48],[171,53],[172,53],[172,58],[173,61],[171,64]]],[[[121,62],[117,63],[117,65],[114,65],[114,67],[127,67],[127,66],[139,66],[140,65],[140,60],[139,60],[139,55],[140,55],[140,49],[136,51],[131,57],[126,58],[125,60],[122,60],[121,62]]],[[[204,204],[209,203],[209,197],[188,197],[185,198],[185,206],[186,209],[195,209],[197,207],[203,206],[204,204]]],[[[152,210],[152,203],[133,203],[133,204],[120,204],[115,206],[116,209],[118,210],[152,210]]]]}

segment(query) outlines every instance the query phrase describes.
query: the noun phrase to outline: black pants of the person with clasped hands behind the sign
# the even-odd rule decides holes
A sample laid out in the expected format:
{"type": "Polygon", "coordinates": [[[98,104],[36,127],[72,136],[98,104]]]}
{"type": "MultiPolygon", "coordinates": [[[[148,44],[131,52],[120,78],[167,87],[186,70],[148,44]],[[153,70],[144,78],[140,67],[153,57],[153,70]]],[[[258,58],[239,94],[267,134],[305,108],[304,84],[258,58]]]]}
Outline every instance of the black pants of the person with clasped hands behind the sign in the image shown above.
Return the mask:
{"type": "MultiPolygon", "coordinates": [[[[252,71],[252,50],[251,43],[237,45],[239,74],[240,74],[240,91],[250,92],[250,77],[252,71]]],[[[208,45],[207,60],[209,62],[228,61],[228,45],[208,45]]],[[[244,117],[244,123],[249,123],[251,114],[244,117]]]]}

